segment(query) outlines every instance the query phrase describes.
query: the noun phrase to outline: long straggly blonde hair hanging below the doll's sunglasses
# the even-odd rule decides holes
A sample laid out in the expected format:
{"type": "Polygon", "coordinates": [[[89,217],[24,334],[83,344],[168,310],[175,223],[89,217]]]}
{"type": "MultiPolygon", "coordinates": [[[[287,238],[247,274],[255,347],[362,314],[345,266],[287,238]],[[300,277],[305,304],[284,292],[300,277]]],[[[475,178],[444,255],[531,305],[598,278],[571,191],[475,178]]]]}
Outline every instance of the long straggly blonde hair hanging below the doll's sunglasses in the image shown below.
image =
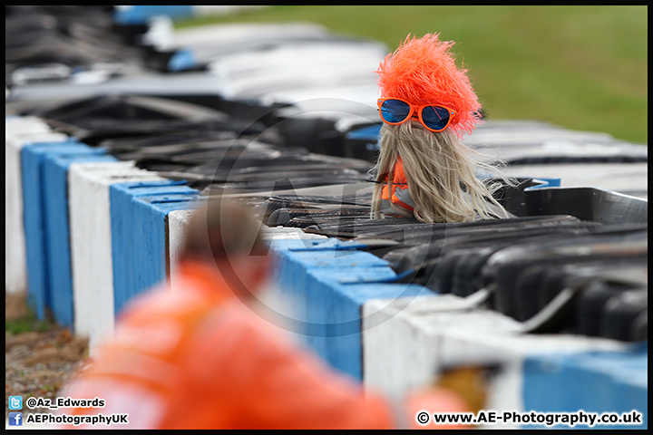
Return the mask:
{"type": "Polygon", "coordinates": [[[513,185],[512,179],[497,175],[502,163],[473,160],[472,155],[479,154],[466,147],[449,129],[434,133],[412,120],[399,125],[384,124],[379,145],[380,154],[372,169],[376,173],[376,185],[371,218],[382,218],[380,208],[383,183],[386,176],[388,182],[392,183],[395,162],[399,156],[404,163],[410,196],[414,200],[414,212],[398,208],[390,201],[396,213],[406,217],[414,216],[421,222],[429,223],[470,222],[477,216],[497,218],[494,210],[503,215],[500,218],[509,217],[502,205],[493,198],[502,183],[485,184],[476,174],[477,169],[485,169],[502,179],[506,185],[513,185]]]}

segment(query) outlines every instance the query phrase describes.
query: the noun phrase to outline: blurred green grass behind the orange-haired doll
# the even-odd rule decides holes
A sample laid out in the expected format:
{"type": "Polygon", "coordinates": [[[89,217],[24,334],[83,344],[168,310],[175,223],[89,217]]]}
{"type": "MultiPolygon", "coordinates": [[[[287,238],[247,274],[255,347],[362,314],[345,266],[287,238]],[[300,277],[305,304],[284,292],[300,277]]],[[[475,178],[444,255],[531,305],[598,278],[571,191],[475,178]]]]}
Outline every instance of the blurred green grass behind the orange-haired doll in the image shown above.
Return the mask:
{"type": "Polygon", "coordinates": [[[180,21],[312,22],[382,41],[440,33],[492,119],[648,142],[647,6],[272,6],[180,21]]]}

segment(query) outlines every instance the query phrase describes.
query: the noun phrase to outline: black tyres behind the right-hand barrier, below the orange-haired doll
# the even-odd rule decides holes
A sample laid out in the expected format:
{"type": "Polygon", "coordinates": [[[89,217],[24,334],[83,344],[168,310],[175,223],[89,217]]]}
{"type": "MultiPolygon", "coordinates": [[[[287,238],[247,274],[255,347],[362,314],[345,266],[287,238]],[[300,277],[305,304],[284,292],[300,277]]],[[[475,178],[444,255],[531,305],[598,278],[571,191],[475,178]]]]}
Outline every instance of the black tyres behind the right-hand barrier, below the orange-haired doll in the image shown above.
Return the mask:
{"type": "Polygon", "coordinates": [[[541,199],[537,189],[515,189],[512,198],[502,198],[506,205],[519,203],[514,197],[520,197],[527,207],[512,211],[521,211],[521,216],[470,223],[370,219],[371,194],[278,195],[258,210],[269,226],[302,227],[308,233],[361,242],[390,263],[397,281],[470,298],[477,301],[473,306],[522,322],[524,332],[646,340],[647,201],[585,190],[602,194],[606,202],[610,196],[612,202],[625,201],[623,209],[630,216],[615,223],[600,207],[580,213],[576,204],[566,204],[566,209],[580,217],[555,214],[564,211],[564,203],[529,216],[529,208],[541,209],[533,205],[541,199]]]}

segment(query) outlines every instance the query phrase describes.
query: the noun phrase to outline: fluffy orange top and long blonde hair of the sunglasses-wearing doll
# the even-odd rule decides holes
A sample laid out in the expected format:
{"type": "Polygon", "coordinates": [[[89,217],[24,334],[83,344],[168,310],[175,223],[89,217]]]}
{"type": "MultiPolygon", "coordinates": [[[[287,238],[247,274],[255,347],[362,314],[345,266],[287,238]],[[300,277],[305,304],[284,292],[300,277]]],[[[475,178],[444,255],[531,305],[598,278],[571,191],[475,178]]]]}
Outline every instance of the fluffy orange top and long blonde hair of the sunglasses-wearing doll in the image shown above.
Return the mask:
{"type": "MultiPolygon", "coordinates": [[[[507,213],[492,198],[501,186],[485,185],[477,170],[495,172],[496,167],[474,159],[474,152],[463,144],[463,133],[470,133],[480,121],[481,110],[467,78],[458,69],[452,42],[442,42],[438,34],[420,39],[407,37],[395,53],[380,64],[378,84],[382,98],[396,98],[415,106],[438,105],[453,110],[448,126],[439,132],[424,128],[414,118],[397,125],[385,121],[379,138],[372,218],[380,213],[381,190],[385,179],[393,179],[396,161],[401,157],[404,174],[415,207],[412,215],[423,222],[467,222],[494,217],[491,205],[507,213]],[[489,202],[488,202],[489,201],[489,202]]],[[[405,209],[397,214],[408,216],[405,209]]]]}

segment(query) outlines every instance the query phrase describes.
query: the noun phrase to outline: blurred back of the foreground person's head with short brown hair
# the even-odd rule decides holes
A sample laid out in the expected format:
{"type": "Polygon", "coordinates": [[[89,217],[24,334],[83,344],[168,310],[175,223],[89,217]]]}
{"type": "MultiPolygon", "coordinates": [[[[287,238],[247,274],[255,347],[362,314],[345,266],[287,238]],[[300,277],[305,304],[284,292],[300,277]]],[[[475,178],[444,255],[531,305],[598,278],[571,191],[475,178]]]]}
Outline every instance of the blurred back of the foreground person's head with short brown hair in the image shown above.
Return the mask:
{"type": "Polygon", "coordinates": [[[260,222],[234,200],[210,197],[190,219],[180,262],[217,266],[238,295],[256,294],[268,277],[268,247],[260,222]]]}

